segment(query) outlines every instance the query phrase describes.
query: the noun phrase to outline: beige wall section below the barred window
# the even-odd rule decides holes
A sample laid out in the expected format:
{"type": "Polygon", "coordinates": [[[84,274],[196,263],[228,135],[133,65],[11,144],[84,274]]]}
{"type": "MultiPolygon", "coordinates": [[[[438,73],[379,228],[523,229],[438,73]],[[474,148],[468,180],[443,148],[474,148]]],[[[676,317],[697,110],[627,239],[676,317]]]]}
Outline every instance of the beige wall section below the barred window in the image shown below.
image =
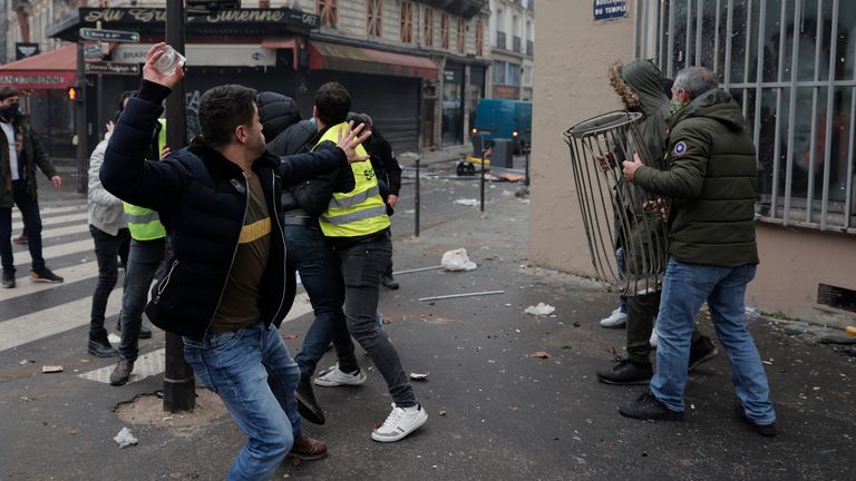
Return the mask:
{"type": "MultiPolygon", "coordinates": [[[[856,239],[852,234],[791,229],[758,224],[758,274],[749,284],[747,304],[788,317],[835,323],[813,308],[817,285],[856,291],[856,239]]],[[[856,315],[847,314],[850,324],[856,315]]]]}

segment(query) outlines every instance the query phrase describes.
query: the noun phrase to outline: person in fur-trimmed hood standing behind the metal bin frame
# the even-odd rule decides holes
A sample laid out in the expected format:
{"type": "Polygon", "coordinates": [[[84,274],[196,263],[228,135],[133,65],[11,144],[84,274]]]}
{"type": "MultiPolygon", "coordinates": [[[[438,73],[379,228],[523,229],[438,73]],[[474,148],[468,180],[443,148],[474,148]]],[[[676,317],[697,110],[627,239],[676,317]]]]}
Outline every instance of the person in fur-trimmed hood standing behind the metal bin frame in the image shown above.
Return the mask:
{"type": "MultiPolygon", "coordinates": [[[[662,90],[660,69],[651,60],[640,59],[625,66],[614,63],[610,67],[609,78],[624,107],[629,111],[640,112],[643,116],[636,126],[644,151],[651,158],[662,158],[669,99],[662,90]]],[[[609,164],[606,166],[609,167],[609,164]]],[[[662,237],[658,234],[662,232],[659,225],[662,220],[658,213],[645,210],[641,205],[634,204],[633,199],[645,198],[646,195],[641,192],[630,192],[638,189],[636,186],[620,178],[615,189],[613,208],[624,209],[626,217],[634,219],[626,223],[630,226],[629,232],[623,227],[617,229],[622,264],[625,269],[623,272],[638,277],[645,274],[644,269],[648,266],[656,265],[658,258],[667,257],[665,252],[654,255],[650,247],[661,245],[665,247],[664,239],[658,238],[662,237]]],[[[628,306],[628,357],[619,359],[617,364],[610,370],[599,371],[597,380],[607,384],[648,384],[654,374],[649,340],[660,306],[660,288],[656,286],[651,292],[642,293],[632,289],[626,294],[625,303],[628,306]]],[[[717,354],[713,343],[709,337],[701,335],[698,328],[692,331],[691,345],[689,371],[717,354]]]]}

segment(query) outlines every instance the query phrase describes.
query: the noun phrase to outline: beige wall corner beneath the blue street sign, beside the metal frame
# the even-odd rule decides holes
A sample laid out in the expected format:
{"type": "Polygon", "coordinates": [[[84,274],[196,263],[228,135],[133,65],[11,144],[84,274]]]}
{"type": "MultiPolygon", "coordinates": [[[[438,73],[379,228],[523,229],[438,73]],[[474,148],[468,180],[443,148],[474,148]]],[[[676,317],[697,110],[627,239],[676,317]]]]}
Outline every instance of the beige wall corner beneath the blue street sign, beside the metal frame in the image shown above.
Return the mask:
{"type": "Polygon", "coordinates": [[[529,258],[592,275],[571,157],[561,134],[621,107],[606,69],[615,60],[630,60],[632,18],[595,23],[591,1],[541,0],[536,11],[529,258]]]}

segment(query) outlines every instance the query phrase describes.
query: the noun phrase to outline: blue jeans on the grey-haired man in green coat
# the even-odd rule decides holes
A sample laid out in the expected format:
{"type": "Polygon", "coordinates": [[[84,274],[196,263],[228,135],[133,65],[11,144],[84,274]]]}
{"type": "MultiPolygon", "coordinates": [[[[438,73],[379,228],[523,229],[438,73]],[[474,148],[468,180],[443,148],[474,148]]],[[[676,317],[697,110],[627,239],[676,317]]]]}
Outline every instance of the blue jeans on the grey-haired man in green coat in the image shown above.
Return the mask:
{"type": "Polygon", "coordinates": [[[745,321],[743,296],[755,269],[751,264],[723,267],[669,259],[656,318],[656,373],[651,392],[670,410],[683,411],[694,317],[707,301],[747,416],[758,424],[776,421],[767,373],[745,321]]]}

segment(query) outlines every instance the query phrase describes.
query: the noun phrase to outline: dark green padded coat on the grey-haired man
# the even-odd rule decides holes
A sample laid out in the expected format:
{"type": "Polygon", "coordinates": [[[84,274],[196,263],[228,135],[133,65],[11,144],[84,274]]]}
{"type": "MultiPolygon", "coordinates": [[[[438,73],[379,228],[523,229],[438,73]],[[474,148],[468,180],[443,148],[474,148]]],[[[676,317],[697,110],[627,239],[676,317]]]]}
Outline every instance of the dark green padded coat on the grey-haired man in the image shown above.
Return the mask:
{"type": "Polygon", "coordinates": [[[633,181],[671,202],[669,254],[719,266],[758,264],[755,145],[740,106],[710,90],[669,120],[667,169],[640,167],[633,181]]]}

